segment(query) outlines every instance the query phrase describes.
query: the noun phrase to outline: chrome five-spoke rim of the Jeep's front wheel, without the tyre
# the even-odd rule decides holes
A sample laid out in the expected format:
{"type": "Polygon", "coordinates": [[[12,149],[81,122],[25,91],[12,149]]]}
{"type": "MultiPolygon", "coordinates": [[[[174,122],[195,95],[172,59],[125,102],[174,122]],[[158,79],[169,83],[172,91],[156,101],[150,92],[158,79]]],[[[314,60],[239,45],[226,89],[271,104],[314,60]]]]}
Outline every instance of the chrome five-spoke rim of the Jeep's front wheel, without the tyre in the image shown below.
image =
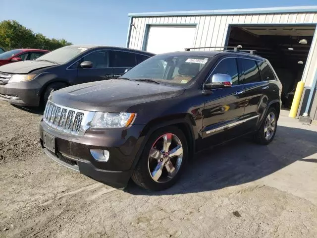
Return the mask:
{"type": "Polygon", "coordinates": [[[175,177],[182,164],[183,146],[180,139],[166,133],[152,145],[148,159],[148,168],[156,182],[167,182],[175,177]]]}

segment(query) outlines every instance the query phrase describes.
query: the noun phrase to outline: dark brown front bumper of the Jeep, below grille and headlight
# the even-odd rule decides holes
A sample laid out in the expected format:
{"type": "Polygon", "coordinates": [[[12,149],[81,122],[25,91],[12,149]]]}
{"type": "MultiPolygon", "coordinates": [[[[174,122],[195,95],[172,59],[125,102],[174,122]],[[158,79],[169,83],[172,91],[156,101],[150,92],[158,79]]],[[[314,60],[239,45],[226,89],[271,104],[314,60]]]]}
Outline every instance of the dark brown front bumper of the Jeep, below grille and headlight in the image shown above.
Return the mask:
{"type": "Polygon", "coordinates": [[[43,120],[40,123],[40,141],[44,152],[57,163],[92,179],[116,188],[124,188],[132,173],[143,138],[143,125],[126,129],[88,130],[82,137],[54,131],[43,120]],[[43,131],[55,137],[55,152],[43,146],[43,131]],[[97,161],[90,149],[108,150],[107,162],[97,161]]]}

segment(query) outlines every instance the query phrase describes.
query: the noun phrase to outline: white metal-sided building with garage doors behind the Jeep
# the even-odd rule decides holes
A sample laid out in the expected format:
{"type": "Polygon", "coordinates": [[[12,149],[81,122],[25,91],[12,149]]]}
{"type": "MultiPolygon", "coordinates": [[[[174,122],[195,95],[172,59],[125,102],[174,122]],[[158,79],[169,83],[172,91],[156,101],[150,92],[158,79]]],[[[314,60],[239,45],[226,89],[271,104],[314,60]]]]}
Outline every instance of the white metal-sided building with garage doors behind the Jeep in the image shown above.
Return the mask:
{"type": "Polygon", "coordinates": [[[156,54],[191,47],[237,45],[257,50],[258,55],[270,60],[282,81],[283,106],[290,107],[296,84],[302,80],[305,88],[297,116],[305,113],[309,103],[308,113],[317,120],[317,94],[310,96],[311,88],[316,90],[317,6],[130,13],[128,16],[128,48],[156,54]]]}

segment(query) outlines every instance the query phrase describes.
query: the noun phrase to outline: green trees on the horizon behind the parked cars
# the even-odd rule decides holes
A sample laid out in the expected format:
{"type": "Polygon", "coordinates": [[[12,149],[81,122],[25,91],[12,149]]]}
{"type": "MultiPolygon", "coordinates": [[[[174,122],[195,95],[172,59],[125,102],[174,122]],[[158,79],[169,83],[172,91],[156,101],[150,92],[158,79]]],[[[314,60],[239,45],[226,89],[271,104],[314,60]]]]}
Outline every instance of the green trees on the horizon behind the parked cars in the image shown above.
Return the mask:
{"type": "Polygon", "coordinates": [[[0,22],[0,46],[6,50],[18,48],[35,48],[53,51],[72,43],[65,39],[49,39],[41,33],[34,33],[15,20],[0,22]]]}

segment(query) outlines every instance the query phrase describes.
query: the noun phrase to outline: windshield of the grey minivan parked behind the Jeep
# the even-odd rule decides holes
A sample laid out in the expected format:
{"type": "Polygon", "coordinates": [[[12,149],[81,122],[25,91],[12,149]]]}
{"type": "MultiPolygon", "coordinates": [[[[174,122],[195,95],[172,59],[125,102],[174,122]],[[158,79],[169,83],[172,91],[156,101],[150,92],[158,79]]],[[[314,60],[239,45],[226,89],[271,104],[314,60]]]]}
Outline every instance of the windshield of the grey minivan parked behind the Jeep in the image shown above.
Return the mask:
{"type": "Polygon", "coordinates": [[[88,50],[88,48],[65,46],[37,58],[36,61],[49,61],[57,64],[63,64],[74,59],[86,50],[88,50]]]}

